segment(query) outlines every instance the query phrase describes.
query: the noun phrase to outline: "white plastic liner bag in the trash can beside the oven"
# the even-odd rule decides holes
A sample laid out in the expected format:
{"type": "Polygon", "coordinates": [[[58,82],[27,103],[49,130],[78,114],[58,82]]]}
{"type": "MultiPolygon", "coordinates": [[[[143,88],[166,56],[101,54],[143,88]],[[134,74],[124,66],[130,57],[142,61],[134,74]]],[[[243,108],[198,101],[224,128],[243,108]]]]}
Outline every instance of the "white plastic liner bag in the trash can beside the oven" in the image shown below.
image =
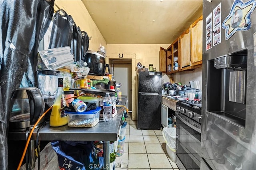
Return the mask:
{"type": "Polygon", "coordinates": [[[176,138],[178,138],[178,135],[176,135],[176,128],[164,127],[162,133],[168,147],[176,152],[176,138]]]}

